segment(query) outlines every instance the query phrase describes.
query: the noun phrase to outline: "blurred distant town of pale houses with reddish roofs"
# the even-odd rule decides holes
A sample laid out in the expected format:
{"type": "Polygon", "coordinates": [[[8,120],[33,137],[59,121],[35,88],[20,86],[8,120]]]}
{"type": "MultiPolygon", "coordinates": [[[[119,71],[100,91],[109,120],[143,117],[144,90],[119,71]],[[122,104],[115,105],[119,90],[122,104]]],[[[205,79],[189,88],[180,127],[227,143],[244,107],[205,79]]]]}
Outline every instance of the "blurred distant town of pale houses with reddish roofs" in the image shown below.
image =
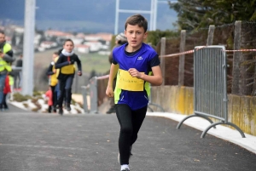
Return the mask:
{"type": "MultiPolygon", "coordinates": [[[[7,32],[7,42],[15,49],[15,54],[22,54],[24,41],[24,28],[21,26],[9,25],[0,26],[0,30],[7,32]]],[[[111,33],[85,34],[71,33],[57,30],[36,31],[34,35],[35,51],[45,51],[50,48],[61,48],[67,38],[73,40],[74,48],[79,53],[110,54],[110,43],[113,37],[111,33]]]]}

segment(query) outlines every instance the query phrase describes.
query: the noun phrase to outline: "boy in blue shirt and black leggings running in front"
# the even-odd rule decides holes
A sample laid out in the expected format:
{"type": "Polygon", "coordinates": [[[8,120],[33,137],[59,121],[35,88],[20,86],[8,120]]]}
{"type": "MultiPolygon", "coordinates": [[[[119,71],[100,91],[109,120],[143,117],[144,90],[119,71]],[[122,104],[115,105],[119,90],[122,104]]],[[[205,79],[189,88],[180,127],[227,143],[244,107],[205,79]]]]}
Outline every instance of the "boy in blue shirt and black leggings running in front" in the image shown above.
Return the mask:
{"type": "Polygon", "coordinates": [[[143,124],[150,94],[149,83],[160,85],[162,75],[158,54],[143,43],[147,37],[148,21],[135,14],[125,22],[125,37],[128,43],[113,49],[106,94],[113,97],[119,120],[119,163],[121,171],[129,171],[131,145],[143,124]],[[117,83],[113,94],[113,78],[117,83]]]}

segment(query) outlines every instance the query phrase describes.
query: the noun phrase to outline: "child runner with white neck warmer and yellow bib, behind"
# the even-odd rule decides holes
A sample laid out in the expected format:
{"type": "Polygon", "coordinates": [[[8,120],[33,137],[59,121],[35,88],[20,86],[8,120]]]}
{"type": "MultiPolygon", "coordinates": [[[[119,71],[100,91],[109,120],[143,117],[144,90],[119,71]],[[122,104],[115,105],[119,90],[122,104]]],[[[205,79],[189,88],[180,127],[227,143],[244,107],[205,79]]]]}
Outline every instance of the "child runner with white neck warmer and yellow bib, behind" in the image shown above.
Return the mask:
{"type": "Polygon", "coordinates": [[[60,73],[58,76],[59,84],[60,84],[60,97],[58,100],[59,105],[59,114],[63,114],[62,104],[63,97],[67,98],[67,104],[65,105],[67,111],[71,111],[70,102],[71,102],[71,88],[73,84],[73,77],[75,73],[75,69],[73,67],[74,62],[77,62],[79,71],[78,75],[82,75],[82,66],[81,61],[77,54],[73,52],[73,41],[71,39],[67,39],[64,42],[63,50],[59,56],[59,59],[55,63],[55,69],[60,68],[60,73]]]}

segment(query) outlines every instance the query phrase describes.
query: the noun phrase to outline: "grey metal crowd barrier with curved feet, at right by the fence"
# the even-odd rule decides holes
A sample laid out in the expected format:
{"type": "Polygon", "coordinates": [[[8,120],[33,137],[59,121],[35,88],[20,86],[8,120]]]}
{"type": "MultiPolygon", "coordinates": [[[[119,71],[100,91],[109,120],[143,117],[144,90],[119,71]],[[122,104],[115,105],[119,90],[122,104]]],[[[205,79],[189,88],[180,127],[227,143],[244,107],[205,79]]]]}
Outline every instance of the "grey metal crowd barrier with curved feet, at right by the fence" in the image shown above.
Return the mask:
{"type": "Polygon", "coordinates": [[[212,124],[203,131],[201,138],[205,137],[210,128],[215,128],[218,124],[227,124],[236,128],[245,138],[241,128],[228,121],[226,60],[224,46],[195,47],[194,114],[183,118],[177,128],[180,128],[190,117],[203,117],[212,124]],[[216,118],[220,122],[213,123],[209,117],[216,118]]]}

